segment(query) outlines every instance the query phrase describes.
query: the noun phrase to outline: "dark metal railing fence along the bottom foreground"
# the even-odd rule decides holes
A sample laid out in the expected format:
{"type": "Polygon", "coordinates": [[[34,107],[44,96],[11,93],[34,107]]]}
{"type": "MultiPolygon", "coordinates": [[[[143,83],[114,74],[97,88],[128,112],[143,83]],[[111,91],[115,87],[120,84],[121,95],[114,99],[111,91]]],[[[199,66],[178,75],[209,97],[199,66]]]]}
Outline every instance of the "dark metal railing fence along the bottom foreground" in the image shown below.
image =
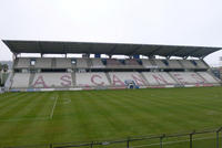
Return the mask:
{"type": "Polygon", "coordinates": [[[222,148],[222,127],[190,133],[128,137],[120,140],[65,142],[4,148],[222,148]]]}

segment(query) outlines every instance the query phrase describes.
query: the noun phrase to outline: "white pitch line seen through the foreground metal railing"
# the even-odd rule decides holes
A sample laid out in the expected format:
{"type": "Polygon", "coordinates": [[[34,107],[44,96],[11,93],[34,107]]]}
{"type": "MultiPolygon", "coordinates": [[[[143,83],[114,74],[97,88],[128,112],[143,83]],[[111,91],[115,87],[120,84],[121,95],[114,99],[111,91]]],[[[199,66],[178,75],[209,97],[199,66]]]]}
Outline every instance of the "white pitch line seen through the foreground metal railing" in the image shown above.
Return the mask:
{"type": "MultiPolygon", "coordinates": [[[[215,139],[214,137],[204,137],[204,138],[195,138],[194,140],[205,140],[205,139],[215,139]]],[[[162,142],[162,145],[172,145],[172,144],[179,144],[179,142],[185,142],[185,141],[190,141],[190,139],[185,139],[185,140],[176,140],[176,141],[165,141],[162,142]]],[[[130,148],[142,148],[142,147],[151,147],[151,146],[160,146],[160,142],[155,142],[155,144],[150,144],[150,145],[140,145],[140,146],[132,146],[130,148]]]]}

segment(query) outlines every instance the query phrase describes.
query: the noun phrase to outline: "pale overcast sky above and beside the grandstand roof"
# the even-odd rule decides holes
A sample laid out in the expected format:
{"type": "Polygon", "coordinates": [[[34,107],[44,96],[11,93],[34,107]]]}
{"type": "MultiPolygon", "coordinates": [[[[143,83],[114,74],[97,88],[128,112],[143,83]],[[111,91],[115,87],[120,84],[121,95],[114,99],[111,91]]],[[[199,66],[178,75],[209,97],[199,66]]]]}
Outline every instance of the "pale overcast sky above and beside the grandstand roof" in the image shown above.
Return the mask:
{"type": "Polygon", "coordinates": [[[222,47],[222,0],[0,0],[0,39],[222,47]]]}

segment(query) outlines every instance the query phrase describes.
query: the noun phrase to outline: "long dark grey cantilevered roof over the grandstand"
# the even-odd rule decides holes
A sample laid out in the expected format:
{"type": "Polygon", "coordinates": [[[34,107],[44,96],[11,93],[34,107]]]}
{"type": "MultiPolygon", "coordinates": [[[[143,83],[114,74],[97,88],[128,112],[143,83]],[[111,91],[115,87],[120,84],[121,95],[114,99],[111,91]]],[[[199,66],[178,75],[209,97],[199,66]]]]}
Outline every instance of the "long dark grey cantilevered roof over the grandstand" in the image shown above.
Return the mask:
{"type": "Polygon", "coordinates": [[[95,42],[60,42],[60,41],[20,41],[3,40],[12,53],[42,53],[42,54],[110,54],[110,55],[160,55],[160,56],[193,56],[204,57],[222,47],[155,45],[130,43],[95,43],[95,42]]]}

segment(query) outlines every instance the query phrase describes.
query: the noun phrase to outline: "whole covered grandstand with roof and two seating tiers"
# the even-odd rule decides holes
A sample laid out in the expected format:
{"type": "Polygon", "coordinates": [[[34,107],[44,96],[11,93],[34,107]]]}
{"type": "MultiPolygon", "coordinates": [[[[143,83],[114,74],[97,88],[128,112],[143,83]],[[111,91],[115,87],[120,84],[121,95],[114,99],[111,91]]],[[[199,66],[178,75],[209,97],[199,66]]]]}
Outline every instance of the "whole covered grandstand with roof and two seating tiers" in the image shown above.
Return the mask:
{"type": "Polygon", "coordinates": [[[3,43],[14,55],[13,71],[4,85],[11,92],[221,85],[203,61],[220,47],[18,40],[3,43]],[[18,56],[20,53],[39,53],[41,57],[18,56]],[[47,54],[83,56],[46,57],[47,54]]]}

